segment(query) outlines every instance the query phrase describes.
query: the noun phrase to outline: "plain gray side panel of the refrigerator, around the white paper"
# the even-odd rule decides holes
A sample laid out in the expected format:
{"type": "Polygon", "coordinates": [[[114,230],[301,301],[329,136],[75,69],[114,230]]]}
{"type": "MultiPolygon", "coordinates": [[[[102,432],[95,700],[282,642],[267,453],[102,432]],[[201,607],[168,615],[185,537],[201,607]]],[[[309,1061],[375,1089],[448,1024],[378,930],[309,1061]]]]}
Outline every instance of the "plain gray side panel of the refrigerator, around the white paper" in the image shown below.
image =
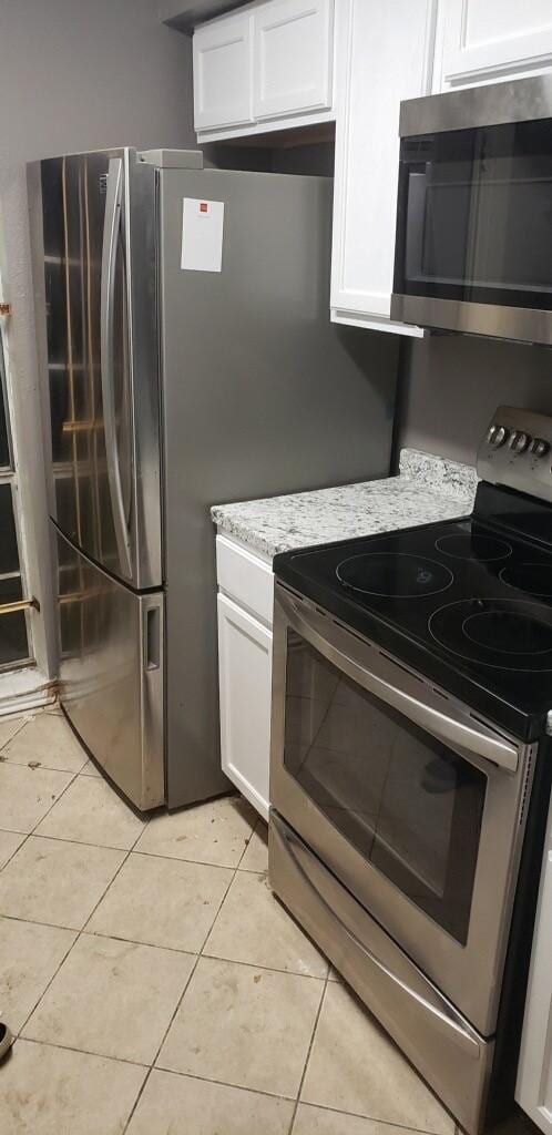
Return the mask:
{"type": "Polygon", "coordinates": [[[159,178],[167,799],[176,807],[228,788],[209,506],[386,477],[398,346],[396,336],[329,322],[329,179],[217,169],[161,169],[159,178]],[[184,263],[216,267],[210,218],[220,219],[220,202],[221,270],[183,269],[183,213],[192,217],[184,263]]]}

